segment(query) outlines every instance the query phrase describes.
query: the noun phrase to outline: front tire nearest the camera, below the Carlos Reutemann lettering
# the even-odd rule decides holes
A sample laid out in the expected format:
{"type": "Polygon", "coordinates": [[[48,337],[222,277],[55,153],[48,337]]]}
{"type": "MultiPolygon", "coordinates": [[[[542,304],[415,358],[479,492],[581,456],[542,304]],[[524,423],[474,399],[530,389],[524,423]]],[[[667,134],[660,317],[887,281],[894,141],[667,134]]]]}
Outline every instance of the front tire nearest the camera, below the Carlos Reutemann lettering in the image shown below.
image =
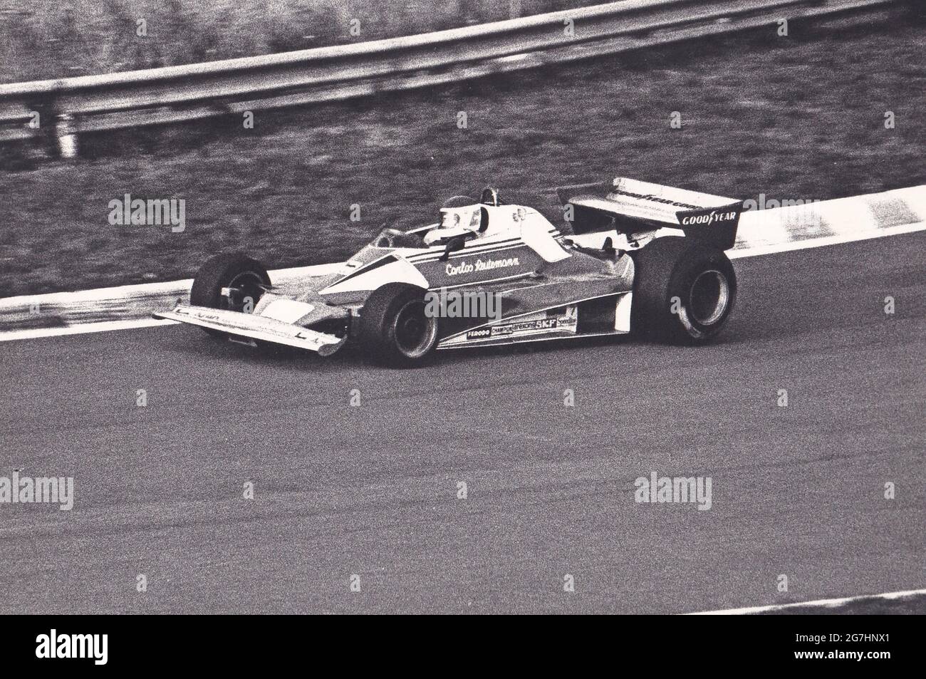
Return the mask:
{"type": "Polygon", "coordinates": [[[386,283],[360,309],[357,343],[365,357],[393,368],[426,364],[437,346],[438,319],[425,314],[423,288],[386,283]]]}

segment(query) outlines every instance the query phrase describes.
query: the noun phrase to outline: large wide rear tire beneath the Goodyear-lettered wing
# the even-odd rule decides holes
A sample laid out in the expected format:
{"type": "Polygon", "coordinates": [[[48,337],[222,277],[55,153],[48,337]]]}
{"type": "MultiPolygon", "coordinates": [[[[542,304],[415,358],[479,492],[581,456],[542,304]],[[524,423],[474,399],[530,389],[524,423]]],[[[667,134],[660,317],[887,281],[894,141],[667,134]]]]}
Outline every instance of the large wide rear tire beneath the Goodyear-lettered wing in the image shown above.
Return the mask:
{"type": "Polygon", "coordinates": [[[634,333],[682,345],[703,344],[720,333],[736,301],[736,274],[721,250],[666,236],[632,258],[634,333]]]}

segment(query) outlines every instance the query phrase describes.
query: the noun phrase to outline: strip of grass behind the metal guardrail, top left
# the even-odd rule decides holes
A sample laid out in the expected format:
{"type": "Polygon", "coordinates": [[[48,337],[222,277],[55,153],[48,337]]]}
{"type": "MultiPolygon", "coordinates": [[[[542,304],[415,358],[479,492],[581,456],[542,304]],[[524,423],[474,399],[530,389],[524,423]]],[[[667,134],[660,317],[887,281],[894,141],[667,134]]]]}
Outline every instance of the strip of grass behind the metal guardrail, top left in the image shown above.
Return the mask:
{"type": "Polygon", "coordinates": [[[5,0],[0,82],[251,57],[499,21],[598,0],[5,0]]]}

